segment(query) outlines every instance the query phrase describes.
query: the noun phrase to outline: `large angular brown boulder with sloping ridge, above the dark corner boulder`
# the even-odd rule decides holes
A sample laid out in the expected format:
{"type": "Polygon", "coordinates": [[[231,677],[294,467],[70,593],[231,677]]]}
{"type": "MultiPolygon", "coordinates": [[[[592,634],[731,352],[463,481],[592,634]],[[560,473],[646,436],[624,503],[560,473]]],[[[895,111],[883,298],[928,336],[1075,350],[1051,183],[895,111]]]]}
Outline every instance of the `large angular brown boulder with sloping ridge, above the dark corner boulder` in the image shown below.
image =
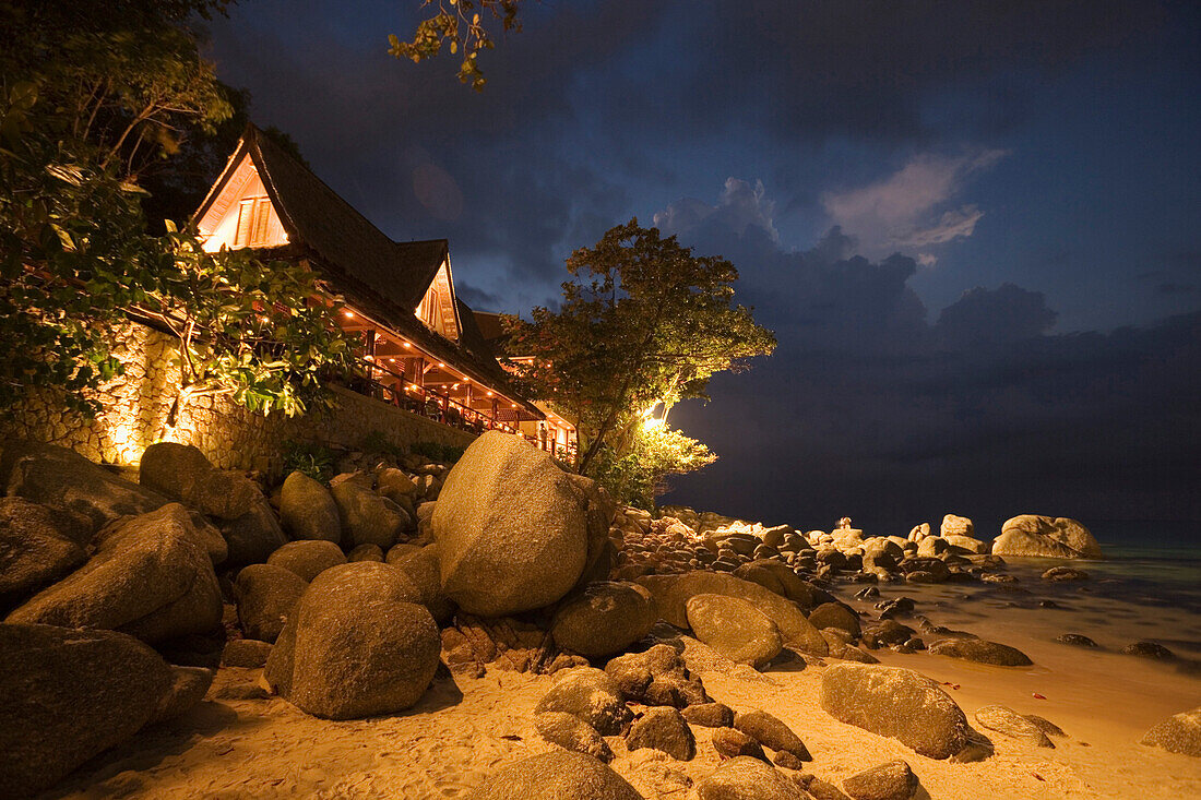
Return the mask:
{"type": "Polygon", "coordinates": [[[179,503],[119,519],[94,544],[86,563],[5,621],[123,631],[151,644],[221,622],[213,562],[179,503]]]}

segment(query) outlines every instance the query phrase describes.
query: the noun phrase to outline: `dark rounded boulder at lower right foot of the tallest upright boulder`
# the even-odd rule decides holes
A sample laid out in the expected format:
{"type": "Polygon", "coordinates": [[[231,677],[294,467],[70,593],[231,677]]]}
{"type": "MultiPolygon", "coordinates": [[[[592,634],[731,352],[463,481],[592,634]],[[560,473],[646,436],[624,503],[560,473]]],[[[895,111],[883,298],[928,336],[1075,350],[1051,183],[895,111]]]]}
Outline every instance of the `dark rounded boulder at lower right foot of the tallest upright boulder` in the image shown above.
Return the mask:
{"type": "Polygon", "coordinates": [[[611,656],[655,627],[655,601],[637,584],[598,581],[564,602],[550,633],[562,650],[588,658],[611,656]]]}

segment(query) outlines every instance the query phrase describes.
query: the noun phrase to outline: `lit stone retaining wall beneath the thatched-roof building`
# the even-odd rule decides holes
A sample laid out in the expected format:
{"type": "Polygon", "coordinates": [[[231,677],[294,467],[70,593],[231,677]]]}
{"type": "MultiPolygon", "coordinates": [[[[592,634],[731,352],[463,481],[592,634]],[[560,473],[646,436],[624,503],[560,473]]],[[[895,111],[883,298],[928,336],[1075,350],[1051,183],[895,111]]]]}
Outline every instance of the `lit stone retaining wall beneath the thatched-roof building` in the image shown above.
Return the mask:
{"type": "Polygon", "coordinates": [[[88,422],[62,407],[61,395],[41,390],[0,424],[0,436],[32,438],[70,447],[89,459],[131,465],[147,446],[161,438],[195,444],[215,465],[229,470],[277,473],[287,441],[319,442],[358,449],[374,432],[399,446],[437,442],[466,447],[474,435],[436,423],[389,404],[331,387],[334,407],[304,417],[269,417],[235,406],[228,398],[197,398],[186,406],[173,431],[165,428],[179,383],[173,336],[131,323],[120,334],[118,358],[125,375],[97,394],[103,412],[88,422]]]}

